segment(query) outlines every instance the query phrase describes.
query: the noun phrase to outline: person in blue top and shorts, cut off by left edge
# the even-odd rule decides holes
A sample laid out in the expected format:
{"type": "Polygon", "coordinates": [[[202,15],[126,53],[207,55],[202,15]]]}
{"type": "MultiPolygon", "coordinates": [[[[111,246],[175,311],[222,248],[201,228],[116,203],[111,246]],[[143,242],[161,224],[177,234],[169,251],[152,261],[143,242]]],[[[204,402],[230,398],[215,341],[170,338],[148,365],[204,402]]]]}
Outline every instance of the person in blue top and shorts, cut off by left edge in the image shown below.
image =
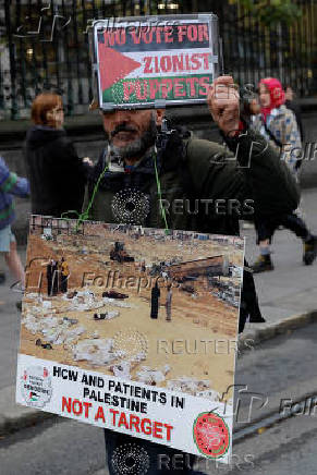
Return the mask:
{"type": "Polygon", "coordinates": [[[26,198],[29,195],[28,181],[12,173],[5,161],[0,157],[0,252],[4,254],[5,263],[16,279],[11,288],[24,291],[25,275],[20,256],[16,251],[15,236],[11,224],[15,219],[14,203],[12,195],[26,198]]]}

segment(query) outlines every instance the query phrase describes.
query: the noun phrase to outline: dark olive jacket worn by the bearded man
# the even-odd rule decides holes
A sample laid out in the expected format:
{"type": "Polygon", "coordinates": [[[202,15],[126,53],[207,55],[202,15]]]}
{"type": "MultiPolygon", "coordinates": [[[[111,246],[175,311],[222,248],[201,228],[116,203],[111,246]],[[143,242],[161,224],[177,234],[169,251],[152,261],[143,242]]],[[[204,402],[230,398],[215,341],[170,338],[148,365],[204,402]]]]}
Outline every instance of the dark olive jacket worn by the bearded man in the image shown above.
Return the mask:
{"type": "MultiPolygon", "coordinates": [[[[173,144],[162,153],[160,193],[155,172],[143,180],[141,191],[150,203],[145,226],[166,227],[160,198],[169,229],[216,234],[237,234],[239,219],[277,217],[297,207],[297,185],[285,163],[253,130],[237,138],[227,139],[228,148],[193,135],[171,142],[173,144]],[[251,207],[245,205],[246,200],[251,207]],[[251,208],[255,215],[249,214],[251,208]]],[[[99,170],[102,169],[99,163],[99,170]]],[[[138,173],[138,168],[131,173],[131,187],[134,173],[138,173]]],[[[126,187],[126,174],[121,174],[122,187],[126,187]]],[[[95,183],[97,178],[98,174],[95,183]]],[[[84,209],[87,209],[92,190],[93,185],[86,192],[84,209]]],[[[111,184],[107,184],[107,180],[105,184],[101,182],[89,219],[115,222],[111,208],[114,195],[111,184]]]]}

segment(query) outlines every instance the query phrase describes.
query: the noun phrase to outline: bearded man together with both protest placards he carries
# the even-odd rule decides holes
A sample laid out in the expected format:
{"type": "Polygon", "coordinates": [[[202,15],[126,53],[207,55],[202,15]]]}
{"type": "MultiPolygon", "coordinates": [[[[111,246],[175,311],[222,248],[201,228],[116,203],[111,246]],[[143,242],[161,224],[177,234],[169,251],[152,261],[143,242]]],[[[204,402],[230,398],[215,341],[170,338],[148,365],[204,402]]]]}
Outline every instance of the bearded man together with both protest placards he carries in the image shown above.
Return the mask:
{"type": "Polygon", "coordinates": [[[98,21],[93,47],[108,144],[78,219],[31,218],[16,401],[105,428],[111,475],[197,474],[230,463],[237,327],[264,321],[239,219],[291,212],[297,188],[219,76],[214,15],[98,21]],[[227,148],[168,129],[193,103],[227,148]],[[41,297],[48,259],[66,295],[48,269],[41,297]]]}

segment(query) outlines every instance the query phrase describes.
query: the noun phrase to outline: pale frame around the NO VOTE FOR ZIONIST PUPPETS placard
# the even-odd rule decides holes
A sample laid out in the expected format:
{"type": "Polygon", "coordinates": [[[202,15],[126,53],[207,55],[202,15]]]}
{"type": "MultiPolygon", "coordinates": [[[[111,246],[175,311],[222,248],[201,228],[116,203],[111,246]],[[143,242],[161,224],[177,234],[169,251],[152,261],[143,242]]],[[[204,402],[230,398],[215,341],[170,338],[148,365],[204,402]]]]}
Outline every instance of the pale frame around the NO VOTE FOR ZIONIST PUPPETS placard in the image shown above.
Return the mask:
{"type": "Polygon", "coordinates": [[[90,36],[92,54],[93,54],[93,80],[96,85],[97,101],[98,107],[102,111],[111,111],[118,109],[163,109],[166,107],[175,106],[190,106],[206,103],[206,99],[175,99],[175,100],[164,100],[158,99],[147,102],[135,102],[135,103],[114,103],[114,102],[103,102],[101,81],[100,81],[100,70],[99,70],[99,56],[98,56],[98,32],[106,28],[125,27],[129,26],[148,26],[154,24],[164,24],[168,23],[169,26],[178,23],[191,23],[199,22],[207,23],[209,29],[209,48],[212,52],[212,74],[214,77],[218,77],[220,74],[220,68],[222,64],[222,51],[221,44],[218,33],[218,16],[214,13],[199,13],[193,15],[149,15],[149,16],[127,16],[122,19],[103,19],[97,20],[93,23],[93,34],[90,36]],[[112,22],[112,23],[111,23],[112,22]],[[176,23],[175,23],[176,22],[176,23]]]}

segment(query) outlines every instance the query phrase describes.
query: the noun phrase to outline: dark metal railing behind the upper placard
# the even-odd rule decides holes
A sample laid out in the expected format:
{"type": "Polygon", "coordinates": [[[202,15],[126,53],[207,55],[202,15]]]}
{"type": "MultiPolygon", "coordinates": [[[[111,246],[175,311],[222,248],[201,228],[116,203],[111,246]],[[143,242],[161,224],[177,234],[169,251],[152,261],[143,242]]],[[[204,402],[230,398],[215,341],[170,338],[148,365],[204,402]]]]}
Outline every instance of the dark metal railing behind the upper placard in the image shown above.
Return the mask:
{"type": "Polygon", "coordinates": [[[264,27],[230,0],[2,0],[0,4],[0,118],[28,117],[34,97],[56,88],[68,114],[93,98],[87,29],[93,20],[125,15],[218,14],[224,68],[240,84],[276,76],[300,96],[314,95],[317,68],[315,0],[296,0],[292,27],[264,27]]]}

